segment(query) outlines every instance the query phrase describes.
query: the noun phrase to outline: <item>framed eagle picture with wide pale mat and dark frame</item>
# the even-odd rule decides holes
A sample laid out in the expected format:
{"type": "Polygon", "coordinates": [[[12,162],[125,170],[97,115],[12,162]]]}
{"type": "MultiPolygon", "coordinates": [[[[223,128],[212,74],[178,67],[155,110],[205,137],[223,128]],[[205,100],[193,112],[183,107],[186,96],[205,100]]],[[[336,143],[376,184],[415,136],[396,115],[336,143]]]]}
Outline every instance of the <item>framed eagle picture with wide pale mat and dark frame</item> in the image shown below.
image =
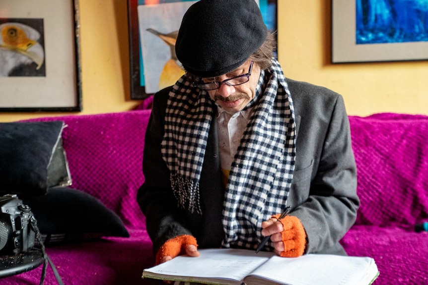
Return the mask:
{"type": "Polygon", "coordinates": [[[0,112],[79,112],[78,0],[0,0],[0,112]]]}

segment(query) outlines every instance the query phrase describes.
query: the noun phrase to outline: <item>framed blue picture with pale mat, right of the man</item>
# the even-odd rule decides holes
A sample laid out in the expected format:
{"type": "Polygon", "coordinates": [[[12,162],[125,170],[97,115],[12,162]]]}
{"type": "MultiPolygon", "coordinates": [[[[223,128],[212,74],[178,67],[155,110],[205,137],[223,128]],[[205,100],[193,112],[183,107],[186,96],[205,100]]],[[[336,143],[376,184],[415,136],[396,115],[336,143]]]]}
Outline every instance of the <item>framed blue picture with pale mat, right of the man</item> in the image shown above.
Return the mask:
{"type": "Polygon", "coordinates": [[[332,0],[332,62],[428,59],[428,0],[332,0]]]}

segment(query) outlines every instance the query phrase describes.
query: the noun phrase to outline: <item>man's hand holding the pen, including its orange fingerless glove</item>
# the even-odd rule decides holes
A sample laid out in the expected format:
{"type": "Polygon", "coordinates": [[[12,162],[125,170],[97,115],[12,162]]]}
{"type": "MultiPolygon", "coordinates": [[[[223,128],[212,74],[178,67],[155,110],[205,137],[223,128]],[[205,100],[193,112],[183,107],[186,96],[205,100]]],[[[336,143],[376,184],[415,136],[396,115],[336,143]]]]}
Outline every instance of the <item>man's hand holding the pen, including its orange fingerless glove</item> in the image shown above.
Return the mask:
{"type": "Polygon", "coordinates": [[[304,253],[306,232],[297,217],[285,216],[277,223],[275,215],[262,223],[262,235],[271,235],[275,253],[282,257],[297,257],[304,253]]]}

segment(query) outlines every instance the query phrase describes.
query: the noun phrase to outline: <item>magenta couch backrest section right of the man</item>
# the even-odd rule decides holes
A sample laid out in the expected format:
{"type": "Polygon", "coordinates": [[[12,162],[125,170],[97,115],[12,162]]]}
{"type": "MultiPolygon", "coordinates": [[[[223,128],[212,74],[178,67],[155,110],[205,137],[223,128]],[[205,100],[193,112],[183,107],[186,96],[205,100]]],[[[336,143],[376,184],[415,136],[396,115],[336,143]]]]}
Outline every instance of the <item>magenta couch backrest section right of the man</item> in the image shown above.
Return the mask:
{"type": "Polygon", "coordinates": [[[350,116],[361,199],[356,225],[413,228],[428,218],[428,116],[350,116]]]}

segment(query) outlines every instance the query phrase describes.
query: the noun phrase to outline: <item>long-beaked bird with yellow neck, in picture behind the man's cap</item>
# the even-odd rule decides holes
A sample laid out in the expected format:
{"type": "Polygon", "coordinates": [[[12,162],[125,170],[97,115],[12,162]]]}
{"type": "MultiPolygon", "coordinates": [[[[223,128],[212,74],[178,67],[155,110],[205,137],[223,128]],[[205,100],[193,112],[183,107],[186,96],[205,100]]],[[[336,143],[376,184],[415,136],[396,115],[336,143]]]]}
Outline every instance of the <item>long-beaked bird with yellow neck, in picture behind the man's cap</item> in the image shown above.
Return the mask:
{"type": "Polygon", "coordinates": [[[162,72],[159,76],[158,88],[161,90],[165,87],[174,85],[175,82],[184,74],[183,68],[180,67],[181,63],[175,55],[175,42],[177,40],[178,31],[163,34],[151,28],[146,30],[153,35],[156,35],[165,44],[167,44],[171,52],[171,57],[164,64],[162,72]]]}

